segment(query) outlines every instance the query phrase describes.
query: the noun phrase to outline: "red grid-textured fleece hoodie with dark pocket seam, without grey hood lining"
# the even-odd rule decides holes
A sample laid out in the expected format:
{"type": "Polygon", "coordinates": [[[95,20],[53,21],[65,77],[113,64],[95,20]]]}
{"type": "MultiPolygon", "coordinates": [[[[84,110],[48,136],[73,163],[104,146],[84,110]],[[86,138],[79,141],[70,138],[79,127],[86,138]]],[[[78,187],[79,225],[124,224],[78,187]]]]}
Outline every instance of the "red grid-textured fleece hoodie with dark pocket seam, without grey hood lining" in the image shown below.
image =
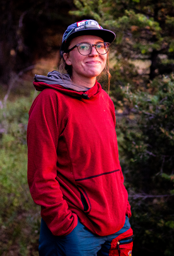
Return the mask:
{"type": "Polygon", "coordinates": [[[113,102],[98,82],[85,93],[34,85],[42,92],[29,111],[28,183],[42,218],[55,236],[69,234],[78,218],[99,236],[117,232],[131,210],[113,102]]]}

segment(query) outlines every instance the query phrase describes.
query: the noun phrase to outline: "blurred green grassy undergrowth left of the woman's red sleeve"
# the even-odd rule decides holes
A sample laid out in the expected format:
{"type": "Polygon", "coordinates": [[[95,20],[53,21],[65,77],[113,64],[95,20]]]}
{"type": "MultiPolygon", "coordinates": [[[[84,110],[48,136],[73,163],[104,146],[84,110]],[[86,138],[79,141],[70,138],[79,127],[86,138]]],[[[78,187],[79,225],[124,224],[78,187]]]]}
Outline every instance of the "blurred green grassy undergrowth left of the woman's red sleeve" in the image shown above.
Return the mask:
{"type": "Polygon", "coordinates": [[[0,110],[0,255],[38,255],[40,211],[27,184],[26,128],[31,99],[8,102],[0,110]],[[34,252],[34,254],[31,254],[34,252]]]}

